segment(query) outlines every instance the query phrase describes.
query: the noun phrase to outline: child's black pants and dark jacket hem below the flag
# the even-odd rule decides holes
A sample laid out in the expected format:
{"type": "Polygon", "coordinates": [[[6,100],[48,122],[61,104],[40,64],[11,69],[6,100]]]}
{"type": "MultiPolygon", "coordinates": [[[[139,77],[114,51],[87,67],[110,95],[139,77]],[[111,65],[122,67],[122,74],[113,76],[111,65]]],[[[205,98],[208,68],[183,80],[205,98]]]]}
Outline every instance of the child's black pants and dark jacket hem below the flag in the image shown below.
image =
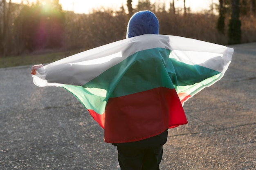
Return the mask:
{"type": "Polygon", "coordinates": [[[117,146],[121,170],[159,170],[167,130],[162,134],[136,142],[112,143],[117,146]]]}

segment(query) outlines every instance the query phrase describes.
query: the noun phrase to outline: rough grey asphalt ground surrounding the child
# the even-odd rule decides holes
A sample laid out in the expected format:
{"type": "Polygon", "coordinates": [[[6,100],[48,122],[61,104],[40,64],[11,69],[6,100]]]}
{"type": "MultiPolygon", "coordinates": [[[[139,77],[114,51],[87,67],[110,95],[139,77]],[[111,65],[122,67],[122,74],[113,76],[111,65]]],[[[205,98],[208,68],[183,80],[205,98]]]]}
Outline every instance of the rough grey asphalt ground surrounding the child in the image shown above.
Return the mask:
{"type": "MultiPolygon", "coordinates": [[[[185,103],[162,170],[256,169],[256,43],[231,46],[221,81],[185,103]]],[[[0,170],[119,170],[116,148],[65,89],[36,87],[31,66],[0,69],[0,170]]]]}

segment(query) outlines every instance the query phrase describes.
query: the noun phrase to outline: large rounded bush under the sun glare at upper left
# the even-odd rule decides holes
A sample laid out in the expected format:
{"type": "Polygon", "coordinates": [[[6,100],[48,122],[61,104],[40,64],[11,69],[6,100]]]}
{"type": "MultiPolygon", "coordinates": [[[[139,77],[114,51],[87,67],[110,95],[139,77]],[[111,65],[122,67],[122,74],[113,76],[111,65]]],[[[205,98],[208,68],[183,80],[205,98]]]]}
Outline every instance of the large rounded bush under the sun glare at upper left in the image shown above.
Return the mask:
{"type": "Polygon", "coordinates": [[[64,13],[58,0],[24,5],[16,18],[16,38],[23,47],[19,51],[54,49],[62,46],[64,13]]]}

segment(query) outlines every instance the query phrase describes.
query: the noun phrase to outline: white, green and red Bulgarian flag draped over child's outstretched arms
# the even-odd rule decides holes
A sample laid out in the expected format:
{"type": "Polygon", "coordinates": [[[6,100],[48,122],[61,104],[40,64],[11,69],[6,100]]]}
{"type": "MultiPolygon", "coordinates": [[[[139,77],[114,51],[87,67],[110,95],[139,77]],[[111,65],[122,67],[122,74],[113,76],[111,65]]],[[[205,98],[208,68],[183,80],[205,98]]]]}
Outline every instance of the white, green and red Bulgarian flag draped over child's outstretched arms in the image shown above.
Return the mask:
{"type": "Polygon", "coordinates": [[[138,141],[187,123],[183,104],[222,78],[234,50],[145,34],[63,58],[32,75],[74,94],[109,143],[138,141]]]}

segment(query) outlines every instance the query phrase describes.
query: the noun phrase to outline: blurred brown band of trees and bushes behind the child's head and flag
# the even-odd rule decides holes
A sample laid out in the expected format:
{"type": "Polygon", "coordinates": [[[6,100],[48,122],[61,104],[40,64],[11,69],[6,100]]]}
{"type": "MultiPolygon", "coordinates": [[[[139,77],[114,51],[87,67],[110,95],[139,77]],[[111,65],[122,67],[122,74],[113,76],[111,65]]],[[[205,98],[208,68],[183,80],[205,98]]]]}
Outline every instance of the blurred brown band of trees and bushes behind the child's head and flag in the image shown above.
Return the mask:
{"type": "Polygon", "coordinates": [[[78,14],[63,11],[58,0],[31,4],[0,0],[0,57],[87,50],[121,40],[126,38],[130,16],[141,10],[156,14],[159,34],[222,45],[255,42],[255,0],[219,2],[212,4],[209,11],[191,13],[185,5],[183,9],[175,8],[175,0],[170,0],[169,9],[165,4],[156,5],[150,0],[139,0],[137,7],[132,8],[132,0],[127,0],[127,7],[78,14]]]}

